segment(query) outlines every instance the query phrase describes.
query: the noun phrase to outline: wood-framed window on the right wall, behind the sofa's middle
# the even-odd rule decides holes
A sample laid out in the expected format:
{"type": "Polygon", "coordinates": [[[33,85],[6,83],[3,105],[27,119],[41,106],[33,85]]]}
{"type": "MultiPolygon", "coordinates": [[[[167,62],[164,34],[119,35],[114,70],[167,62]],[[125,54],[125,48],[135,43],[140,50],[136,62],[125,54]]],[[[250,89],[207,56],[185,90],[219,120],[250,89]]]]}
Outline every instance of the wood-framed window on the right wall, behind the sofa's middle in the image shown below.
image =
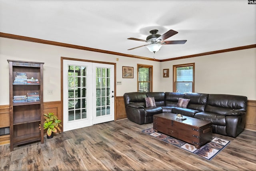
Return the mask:
{"type": "Polygon", "coordinates": [[[195,63],[173,66],[173,92],[194,92],[195,63]]]}

